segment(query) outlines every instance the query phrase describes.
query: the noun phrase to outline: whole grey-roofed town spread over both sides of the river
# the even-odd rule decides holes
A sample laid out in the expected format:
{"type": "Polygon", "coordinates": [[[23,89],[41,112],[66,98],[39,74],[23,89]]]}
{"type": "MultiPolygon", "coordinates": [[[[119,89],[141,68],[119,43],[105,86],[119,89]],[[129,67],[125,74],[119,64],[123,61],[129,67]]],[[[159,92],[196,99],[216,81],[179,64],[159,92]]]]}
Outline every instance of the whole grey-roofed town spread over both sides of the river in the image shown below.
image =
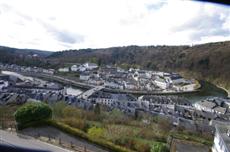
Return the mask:
{"type": "MultiPolygon", "coordinates": [[[[211,134],[219,130],[218,124],[228,124],[230,120],[230,100],[227,98],[211,97],[191,103],[184,97],[167,94],[192,92],[200,87],[196,80],[187,80],[176,73],[140,69],[125,71],[92,63],[58,70],[0,64],[0,69],[1,105],[64,101],[85,110],[102,105],[108,111],[118,109],[132,117],[143,114],[165,117],[174,126],[211,134]],[[67,79],[62,76],[70,72],[77,73],[77,77],[67,79]],[[48,77],[49,80],[43,79],[48,77]],[[56,78],[55,81],[52,78],[56,78]],[[85,89],[76,93],[71,84],[85,89]],[[136,92],[143,94],[136,95],[136,92]]],[[[215,138],[220,137],[216,135],[215,138]]],[[[213,148],[218,146],[219,143],[215,142],[213,148]]]]}

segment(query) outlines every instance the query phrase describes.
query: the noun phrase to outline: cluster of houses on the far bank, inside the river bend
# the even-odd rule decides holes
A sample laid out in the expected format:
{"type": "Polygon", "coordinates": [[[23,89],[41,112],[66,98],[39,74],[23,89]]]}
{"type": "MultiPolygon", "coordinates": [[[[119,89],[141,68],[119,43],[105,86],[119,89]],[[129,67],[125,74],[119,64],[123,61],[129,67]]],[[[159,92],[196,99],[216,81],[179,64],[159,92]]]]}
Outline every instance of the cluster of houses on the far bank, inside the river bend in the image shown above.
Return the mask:
{"type": "Polygon", "coordinates": [[[81,82],[118,90],[185,92],[199,87],[197,81],[187,80],[177,73],[133,68],[124,70],[115,66],[98,67],[94,63],[76,64],[58,71],[77,72],[81,82]]]}

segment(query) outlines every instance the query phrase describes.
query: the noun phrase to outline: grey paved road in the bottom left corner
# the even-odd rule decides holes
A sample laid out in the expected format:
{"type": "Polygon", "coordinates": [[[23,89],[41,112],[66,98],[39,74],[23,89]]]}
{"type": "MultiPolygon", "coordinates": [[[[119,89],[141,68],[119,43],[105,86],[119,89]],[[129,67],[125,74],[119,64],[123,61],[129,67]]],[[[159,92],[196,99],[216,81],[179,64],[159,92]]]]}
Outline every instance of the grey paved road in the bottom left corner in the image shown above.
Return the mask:
{"type": "MultiPolygon", "coordinates": [[[[63,149],[45,142],[41,142],[32,137],[19,137],[14,132],[7,132],[0,130],[0,145],[5,145],[10,148],[23,148],[23,149],[32,149],[35,151],[52,151],[52,152],[70,152],[70,150],[63,149]]],[[[0,147],[2,148],[2,147],[0,147]]],[[[30,150],[26,150],[30,151],[30,150]]]]}

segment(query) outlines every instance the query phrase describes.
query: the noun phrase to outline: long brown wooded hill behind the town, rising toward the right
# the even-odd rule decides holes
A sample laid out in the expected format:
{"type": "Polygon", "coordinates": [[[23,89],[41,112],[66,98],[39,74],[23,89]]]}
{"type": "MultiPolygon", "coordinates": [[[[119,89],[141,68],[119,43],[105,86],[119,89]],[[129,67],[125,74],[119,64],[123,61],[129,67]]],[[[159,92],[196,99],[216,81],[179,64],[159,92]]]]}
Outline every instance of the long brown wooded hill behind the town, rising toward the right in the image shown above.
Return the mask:
{"type": "Polygon", "coordinates": [[[67,50],[51,54],[50,62],[116,64],[124,68],[177,71],[230,90],[230,41],[194,46],[126,46],[67,50]]]}

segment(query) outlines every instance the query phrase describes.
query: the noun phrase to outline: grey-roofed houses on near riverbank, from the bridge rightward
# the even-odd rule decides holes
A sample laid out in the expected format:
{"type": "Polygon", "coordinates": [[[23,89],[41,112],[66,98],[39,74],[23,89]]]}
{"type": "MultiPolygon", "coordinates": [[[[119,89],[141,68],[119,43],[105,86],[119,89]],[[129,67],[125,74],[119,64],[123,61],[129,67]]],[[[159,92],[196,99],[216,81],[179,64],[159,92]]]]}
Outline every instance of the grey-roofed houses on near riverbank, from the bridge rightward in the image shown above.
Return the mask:
{"type": "Polygon", "coordinates": [[[91,89],[87,91],[86,94],[87,95],[78,96],[78,98],[85,100],[87,105],[101,104],[110,109],[120,109],[130,115],[134,115],[136,111],[144,111],[153,115],[169,115],[175,118],[181,117],[189,120],[230,120],[230,101],[222,98],[207,99],[209,102],[216,101],[219,104],[219,106],[218,104],[216,105],[216,111],[207,111],[203,108],[197,108],[196,106],[196,104],[206,102],[207,100],[192,105],[185,98],[178,96],[143,95],[136,98],[130,94],[104,92],[103,88],[98,90],[91,89]]]}

